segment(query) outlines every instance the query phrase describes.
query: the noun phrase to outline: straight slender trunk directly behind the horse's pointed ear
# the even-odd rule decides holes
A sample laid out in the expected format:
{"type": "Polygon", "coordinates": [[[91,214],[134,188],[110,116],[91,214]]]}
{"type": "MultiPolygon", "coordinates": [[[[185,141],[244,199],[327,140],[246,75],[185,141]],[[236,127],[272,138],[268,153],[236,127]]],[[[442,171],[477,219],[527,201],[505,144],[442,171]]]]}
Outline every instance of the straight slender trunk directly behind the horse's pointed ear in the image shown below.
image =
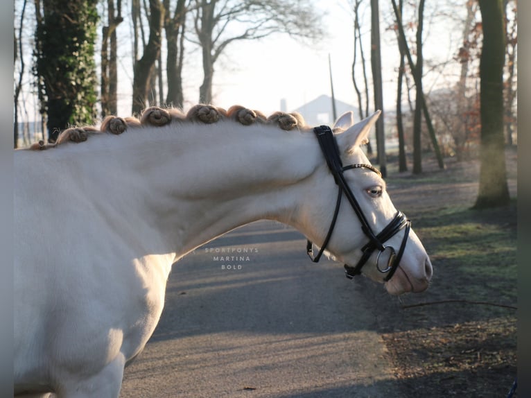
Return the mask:
{"type": "Polygon", "coordinates": [[[382,111],[378,121],[376,121],[376,152],[378,153],[380,171],[385,178],[387,175],[387,164],[385,159],[385,131],[383,130],[383,87],[378,0],[371,0],[371,66],[374,84],[374,109],[382,111]]]}

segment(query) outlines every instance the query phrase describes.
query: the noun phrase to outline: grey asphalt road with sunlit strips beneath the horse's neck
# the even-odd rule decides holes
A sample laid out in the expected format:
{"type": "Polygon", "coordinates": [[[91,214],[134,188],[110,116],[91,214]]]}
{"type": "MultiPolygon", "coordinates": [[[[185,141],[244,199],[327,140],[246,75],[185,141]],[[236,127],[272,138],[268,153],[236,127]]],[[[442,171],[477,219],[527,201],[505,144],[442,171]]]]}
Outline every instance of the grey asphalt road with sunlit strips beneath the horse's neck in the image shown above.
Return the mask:
{"type": "Polygon", "coordinates": [[[305,245],[261,221],[177,263],[121,397],[397,397],[374,309],[305,245]]]}

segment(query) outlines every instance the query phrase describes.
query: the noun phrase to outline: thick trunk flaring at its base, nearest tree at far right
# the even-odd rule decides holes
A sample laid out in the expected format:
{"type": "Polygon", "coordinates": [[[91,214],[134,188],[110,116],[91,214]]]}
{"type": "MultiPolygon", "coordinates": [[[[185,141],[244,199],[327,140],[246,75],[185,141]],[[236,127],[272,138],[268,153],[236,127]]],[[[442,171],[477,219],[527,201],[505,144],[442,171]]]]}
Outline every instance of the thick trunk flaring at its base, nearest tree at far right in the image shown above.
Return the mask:
{"type": "Polygon", "coordinates": [[[476,208],[507,205],[510,200],[503,139],[503,1],[480,0],[483,46],[480,58],[480,188],[476,208]]]}

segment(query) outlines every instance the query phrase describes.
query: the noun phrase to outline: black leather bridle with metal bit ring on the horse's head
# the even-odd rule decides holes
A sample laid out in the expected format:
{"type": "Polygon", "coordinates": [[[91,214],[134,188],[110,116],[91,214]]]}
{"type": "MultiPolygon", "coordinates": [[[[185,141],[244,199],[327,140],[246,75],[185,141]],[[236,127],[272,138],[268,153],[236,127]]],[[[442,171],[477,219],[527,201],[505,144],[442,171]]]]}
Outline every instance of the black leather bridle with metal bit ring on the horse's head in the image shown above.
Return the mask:
{"type": "Polygon", "coordinates": [[[313,244],[311,243],[311,241],[308,240],[308,243],[306,244],[306,252],[314,263],[317,263],[317,261],[319,261],[324,250],[327,248],[327,245],[332,236],[333,227],[336,225],[336,220],[338,219],[341,198],[343,194],[345,194],[347,200],[349,200],[350,205],[352,206],[352,209],[354,209],[356,216],[358,216],[360,220],[361,230],[369,238],[369,242],[365,244],[363,248],[361,248],[363,254],[356,266],[349,266],[345,264],[345,275],[349,279],[354,278],[356,275],[360,275],[361,268],[363,268],[365,263],[367,263],[367,260],[369,259],[369,257],[371,257],[372,253],[375,250],[378,250],[379,253],[376,257],[376,268],[378,268],[380,272],[388,274],[383,279],[384,281],[388,281],[394,275],[394,272],[399,266],[403,251],[406,248],[406,242],[408,241],[411,222],[401,211],[397,211],[397,214],[394,215],[394,218],[391,220],[391,222],[385,228],[383,228],[383,230],[379,234],[374,234],[374,232],[372,232],[372,228],[370,227],[367,221],[367,218],[365,218],[365,216],[363,215],[363,211],[361,210],[358,201],[354,197],[354,193],[352,193],[351,189],[349,188],[349,185],[347,184],[343,173],[352,168],[367,168],[371,171],[374,171],[374,173],[378,173],[378,175],[381,176],[380,171],[378,171],[370,164],[349,164],[348,166],[343,166],[339,153],[338,143],[336,141],[336,137],[333,136],[331,128],[329,128],[328,126],[319,126],[314,128],[313,131],[317,136],[317,140],[319,141],[319,144],[321,146],[324,158],[327,160],[327,164],[332,172],[333,178],[336,181],[336,184],[338,185],[339,189],[338,198],[336,200],[336,210],[333,213],[333,218],[329,227],[328,234],[324,238],[324,242],[322,243],[320,251],[317,253],[317,256],[313,257],[313,244]],[[403,229],[405,229],[405,231],[402,243],[400,245],[398,253],[396,253],[392,246],[386,246],[384,245],[384,243],[403,229]],[[379,260],[381,254],[385,252],[385,250],[390,251],[390,257],[387,266],[385,268],[381,268],[379,260]]]}

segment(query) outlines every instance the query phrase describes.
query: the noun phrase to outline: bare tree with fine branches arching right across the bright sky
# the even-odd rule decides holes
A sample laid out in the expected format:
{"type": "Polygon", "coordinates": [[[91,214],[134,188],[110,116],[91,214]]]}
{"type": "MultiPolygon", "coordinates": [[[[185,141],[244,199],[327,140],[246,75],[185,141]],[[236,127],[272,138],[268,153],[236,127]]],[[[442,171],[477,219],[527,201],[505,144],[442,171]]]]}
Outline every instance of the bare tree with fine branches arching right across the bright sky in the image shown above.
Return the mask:
{"type": "Polygon", "coordinates": [[[272,33],[312,40],[322,35],[319,17],[308,0],[192,0],[191,3],[195,33],[202,49],[201,103],[212,101],[214,64],[229,44],[272,33]]]}

